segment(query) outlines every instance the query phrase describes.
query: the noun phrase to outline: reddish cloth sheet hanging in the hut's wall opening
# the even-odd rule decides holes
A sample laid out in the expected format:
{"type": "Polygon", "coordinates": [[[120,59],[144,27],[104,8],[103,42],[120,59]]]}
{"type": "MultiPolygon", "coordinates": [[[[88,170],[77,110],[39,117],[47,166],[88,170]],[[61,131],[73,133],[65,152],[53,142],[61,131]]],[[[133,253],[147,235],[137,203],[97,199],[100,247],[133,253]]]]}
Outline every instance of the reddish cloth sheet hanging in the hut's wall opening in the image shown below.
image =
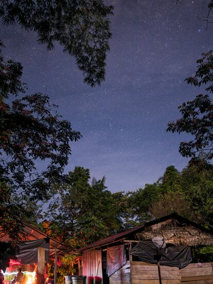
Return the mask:
{"type": "Polygon", "coordinates": [[[107,248],[107,275],[111,276],[127,263],[125,245],[116,245],[107,248]]]}

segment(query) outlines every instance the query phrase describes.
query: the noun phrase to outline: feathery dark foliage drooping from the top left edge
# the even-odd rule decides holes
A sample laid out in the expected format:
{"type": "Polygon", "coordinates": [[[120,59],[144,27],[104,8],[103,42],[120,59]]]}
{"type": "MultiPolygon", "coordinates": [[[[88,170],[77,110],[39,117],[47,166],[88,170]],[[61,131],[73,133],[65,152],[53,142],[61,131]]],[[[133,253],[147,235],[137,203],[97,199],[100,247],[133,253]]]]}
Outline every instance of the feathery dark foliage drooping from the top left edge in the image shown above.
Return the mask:
{"type": "Polygon", "coordinates": [[[1,0],[3,24],[19,24],[38,33],[38,42],[54,48],[59,43],[76,60],[84,82],[94,86],[105,77],[112,6],[102,0],[1,0]]]}

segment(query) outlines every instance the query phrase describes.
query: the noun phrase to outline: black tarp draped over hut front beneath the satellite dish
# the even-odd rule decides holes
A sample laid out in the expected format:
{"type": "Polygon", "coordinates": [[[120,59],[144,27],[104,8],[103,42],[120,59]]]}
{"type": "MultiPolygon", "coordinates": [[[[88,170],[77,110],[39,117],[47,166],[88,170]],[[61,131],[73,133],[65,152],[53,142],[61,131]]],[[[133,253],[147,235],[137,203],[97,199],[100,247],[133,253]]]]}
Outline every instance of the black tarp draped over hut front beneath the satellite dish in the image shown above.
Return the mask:
{"type": "MultiPolygon", "coordinates": [[[[137,243],[130,254],[137,256],[141,261],[157,263],[157,260],[154,259],[156,247],[152,242],[141,241],[137,243]]],[[[192,261],[191,249],[187,245],[165,247],[165,249],[161,249],[161,254],[160,264],[162,265],[184,268],[192,261]]]]}

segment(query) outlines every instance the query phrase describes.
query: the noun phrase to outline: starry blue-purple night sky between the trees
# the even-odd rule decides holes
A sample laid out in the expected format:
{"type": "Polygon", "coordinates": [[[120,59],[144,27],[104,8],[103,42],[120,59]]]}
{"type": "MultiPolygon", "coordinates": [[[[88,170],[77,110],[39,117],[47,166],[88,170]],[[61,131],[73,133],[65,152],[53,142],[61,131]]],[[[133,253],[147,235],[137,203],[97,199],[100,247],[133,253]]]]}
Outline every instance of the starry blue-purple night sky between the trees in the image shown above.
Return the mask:
{"type": "Polygon", "coordinates": [[[83,135],[72,145],[65,172],[89,168],[91,178],[105,175],[115,192],[153,183],[167,166],[187,165],[178,151],[187,136],[165,130],[180,117],[178,105],[199,93],[184,79],[194,74],[201,53],[213,48],[213,24],[206,31],[198,19],[207,14],[209,1],[105,1],[115,7],[113,37],[105,82],[95,88],[83,83],[62,47],[47,51],[36,33],[1,27],[5,59],[23,64],[28,93],[48,94],[83,135]]]}

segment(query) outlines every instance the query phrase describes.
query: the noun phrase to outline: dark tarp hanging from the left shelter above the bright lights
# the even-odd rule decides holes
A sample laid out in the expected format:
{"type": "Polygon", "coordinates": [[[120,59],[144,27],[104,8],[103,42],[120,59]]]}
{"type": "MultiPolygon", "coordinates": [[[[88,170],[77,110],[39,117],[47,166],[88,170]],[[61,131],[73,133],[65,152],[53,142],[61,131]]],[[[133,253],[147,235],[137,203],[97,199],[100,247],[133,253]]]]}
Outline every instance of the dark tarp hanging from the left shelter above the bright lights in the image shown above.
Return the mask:
{"type": "Polygon", "coordinates": [[[49,239],[40,239],[35,241],[20,242],[19,252],[16,255],[18,260],[21,260],[22,264],[37,263],[38,247],[45,248],[45,261],[49,262],[49,239]]]}

